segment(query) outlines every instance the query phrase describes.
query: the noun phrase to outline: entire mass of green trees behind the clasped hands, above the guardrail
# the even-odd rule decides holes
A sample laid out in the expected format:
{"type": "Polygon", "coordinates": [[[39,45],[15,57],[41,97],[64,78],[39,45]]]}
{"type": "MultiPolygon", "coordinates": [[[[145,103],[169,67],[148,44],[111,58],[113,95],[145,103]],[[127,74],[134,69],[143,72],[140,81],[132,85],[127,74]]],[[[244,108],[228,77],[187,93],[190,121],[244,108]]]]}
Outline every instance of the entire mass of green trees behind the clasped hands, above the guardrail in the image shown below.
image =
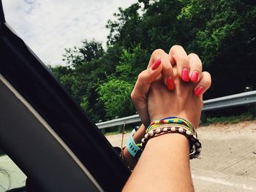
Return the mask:
{"type": "Polygon", "coordinates": [[[256,4],[250,0],[138,0],[108,20],[107,49],[95,40],[66,49],[50,69],[94,121],[135,112],[129,94],[151,53],[182,45],[211,73],[205,99],[256,87],[256,4]]]}

